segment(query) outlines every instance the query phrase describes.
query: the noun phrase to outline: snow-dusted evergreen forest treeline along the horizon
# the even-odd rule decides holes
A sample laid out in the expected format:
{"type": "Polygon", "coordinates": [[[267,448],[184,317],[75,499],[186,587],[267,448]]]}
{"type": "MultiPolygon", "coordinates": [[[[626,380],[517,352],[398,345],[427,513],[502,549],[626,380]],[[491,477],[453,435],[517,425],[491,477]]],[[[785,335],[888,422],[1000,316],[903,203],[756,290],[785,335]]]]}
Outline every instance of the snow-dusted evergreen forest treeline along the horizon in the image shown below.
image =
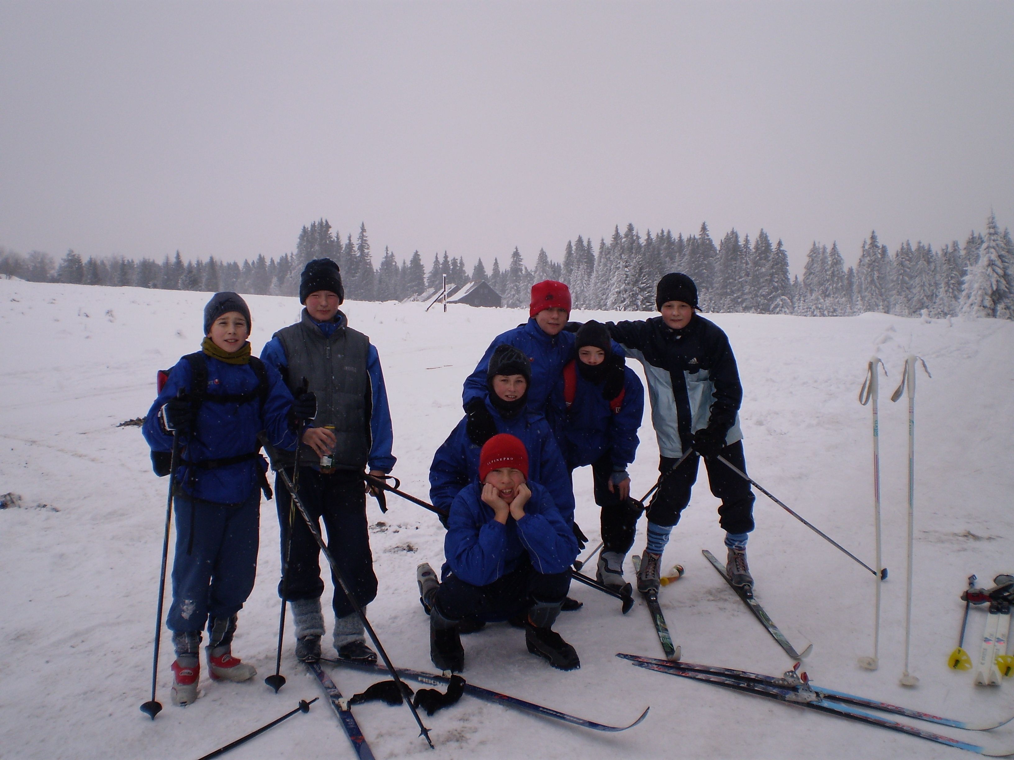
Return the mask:
{"type": "Polygon", "coordinates": [[[384,247],[374,263],[366,225],[345,239],[325,219],[304,226],[295,250],[277,258],[261,254],[242,263],[209,256],[184,260],[179,251],[162,261],[126,256],[82,258],[73,250],[57,261],[41,251],[26,255],[0,248],[0,275],[34,282],[136,286],[166,290],[294,296],[306,261],[328,256],[339,262],[347,297],[358,301],[405,300],[441,287],[485,280],[505,306],[528,303],[532,283],[561,280],[575,308],[617,311],[655,308],[655,283],[667,272],[684,272],[698,284],[701,305],[711,312],[845,316],[866,311],[913,316],[966,314],[1014,318],[1014,242],[993,214],[986,232],[971,232],[934,248],[906,241],[890,253],[876,232],[863,241],[855,267],[845,265],[838,243],[814,242],[802,276],[790,276],[779,239],[760,230],[751,240],[729,230],[716,244],[708,225],[696,234],[671,230],[642,235],[633,224],[598,244],[582,235],[569,240],[562,260],[539,249],[529,269],[517,248],[487,270],[480,258],[469,271],[463,257],[434,254],[427,269],[419,251],[399,261],[384,247]]]}

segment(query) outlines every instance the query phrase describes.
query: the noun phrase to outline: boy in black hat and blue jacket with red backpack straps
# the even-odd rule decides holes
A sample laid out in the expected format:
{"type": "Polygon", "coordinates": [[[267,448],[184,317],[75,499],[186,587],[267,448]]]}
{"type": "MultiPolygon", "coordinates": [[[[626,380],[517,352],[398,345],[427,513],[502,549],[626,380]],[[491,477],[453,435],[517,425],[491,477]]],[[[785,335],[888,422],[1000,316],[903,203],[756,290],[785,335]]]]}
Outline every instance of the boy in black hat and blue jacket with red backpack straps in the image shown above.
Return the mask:
{"type": "Polygon", "coordinates": [[[644,508],[630,498],[627,466],[637,453],[644,415],[644,386],[612,351],[605,325],[594,320],[577,331],[577,360],[564,367],[567,422],[562,447],[567,467],[591,465],[595,504],[601,507],[599,583],[620,591],[627,585],[624,559],[634,544],[644,508]]]}

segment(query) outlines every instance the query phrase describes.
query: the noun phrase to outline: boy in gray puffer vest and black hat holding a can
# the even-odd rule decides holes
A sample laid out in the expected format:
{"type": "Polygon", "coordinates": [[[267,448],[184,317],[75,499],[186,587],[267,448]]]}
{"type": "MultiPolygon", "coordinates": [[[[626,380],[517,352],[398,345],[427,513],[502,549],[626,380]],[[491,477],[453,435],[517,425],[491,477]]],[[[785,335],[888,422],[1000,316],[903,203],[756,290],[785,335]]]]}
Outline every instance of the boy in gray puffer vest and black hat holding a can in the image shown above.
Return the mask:
{"type": "MultiPolygon", "coordinates": [[[[290,390],[300,390],[306,383],[316,395],[316,416],[300,437],[299,498],[312,517],[323,519],[328,548],[356,601],[365,607],[376,597],[377,579],[362,475],[367,466],[371,475],[387,474],[394,466],[394,457],[380,359],[369,337],[348,326],[338,308],[344,300],[338,264],[330,258],[309,261],[299,282],[299,301],[305,306],[302,318],[276,332],[261,352],[261,359],[279,371],[290,390]]],[[[285,467],[291,475],[294,454],[274,449],[270,453],[275,469],[285,467]]],[[[292,606],[296,657],[315,661],[320,657],[320,636],[324,633],[319,548],[302,516],[293,512],[280,476],[276,478],[276,493],[284,569],[279,596],[284,595],[292,606]]],[[[332,581],[334,642],[339,658],[375,663],[376,654],[366,645],[359,616],[335,579],[332,581]]]]}

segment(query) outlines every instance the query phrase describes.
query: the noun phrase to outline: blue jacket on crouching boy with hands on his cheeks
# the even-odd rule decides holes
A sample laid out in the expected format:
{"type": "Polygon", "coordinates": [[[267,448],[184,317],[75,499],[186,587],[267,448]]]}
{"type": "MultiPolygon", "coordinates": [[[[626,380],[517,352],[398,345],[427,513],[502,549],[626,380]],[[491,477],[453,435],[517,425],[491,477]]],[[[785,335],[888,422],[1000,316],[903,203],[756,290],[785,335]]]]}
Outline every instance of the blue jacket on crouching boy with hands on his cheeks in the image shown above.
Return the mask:
{"type": "Polygon", "coordinates": [[[527,553],[536,573],[566,573],[577,558],[577,539],[541,485],[528,480],[531,499],[524,517],[493,519],[476,478],[454,498],[447,520],[444,556],[450,572],[473,586],[488,586],[513,569],[527,553]]]}

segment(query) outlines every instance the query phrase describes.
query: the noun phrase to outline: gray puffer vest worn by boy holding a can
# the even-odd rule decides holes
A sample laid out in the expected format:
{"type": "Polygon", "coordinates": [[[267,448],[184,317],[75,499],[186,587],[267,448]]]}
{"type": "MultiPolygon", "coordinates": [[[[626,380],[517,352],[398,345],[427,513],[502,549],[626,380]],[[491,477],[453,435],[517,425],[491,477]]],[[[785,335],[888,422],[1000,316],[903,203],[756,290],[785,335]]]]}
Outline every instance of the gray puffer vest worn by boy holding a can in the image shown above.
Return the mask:
{"type": "MultiPolygon", "coordinates": [[[[329,337],[316,326],[306,309],[296,324],[275,333],[285,349],[288,372],[285,382],[294,393],[309,381],[309,390],[316,394],[317,413],[313,427],[334,426],[335,465],[341,469],[362,470],[369,458],[372,436],[370,411],[372,388],[366,364],[370,339],[348,326],[348,319],[338,312],[340,327],[329,337]]],[[[300,466],[318,466],[320,457],[305,445],[300,445],[300,466]]],[[[272,464],[291,466],[295,454],[270,449],[272,464]]]]}

